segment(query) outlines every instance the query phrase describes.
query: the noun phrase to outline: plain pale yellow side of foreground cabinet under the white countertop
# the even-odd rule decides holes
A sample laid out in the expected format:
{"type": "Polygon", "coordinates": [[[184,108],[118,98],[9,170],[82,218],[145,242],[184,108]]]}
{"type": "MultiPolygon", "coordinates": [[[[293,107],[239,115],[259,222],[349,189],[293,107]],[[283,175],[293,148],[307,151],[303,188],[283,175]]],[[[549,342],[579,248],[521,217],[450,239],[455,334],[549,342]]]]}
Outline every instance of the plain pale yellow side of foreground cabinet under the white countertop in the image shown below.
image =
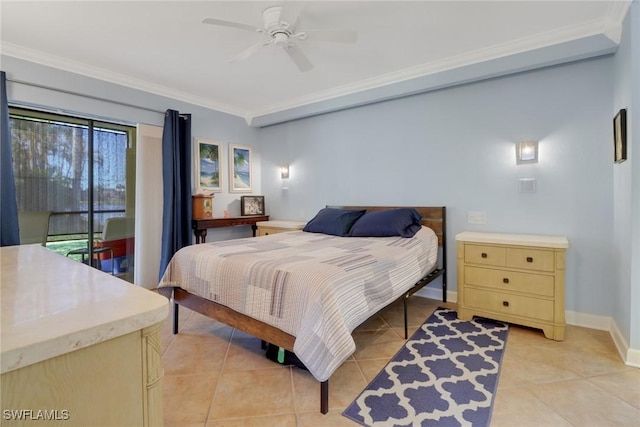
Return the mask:
{"type": "MultiPolygon", "coordinates": [[[[69,425],[144,426],[146,385],[137,331],[2,374],[2,403],[3,408],[66,410],[69,425]]],[[[162,421],[162,401],[158,405],[154,419],[162,421]]]]}

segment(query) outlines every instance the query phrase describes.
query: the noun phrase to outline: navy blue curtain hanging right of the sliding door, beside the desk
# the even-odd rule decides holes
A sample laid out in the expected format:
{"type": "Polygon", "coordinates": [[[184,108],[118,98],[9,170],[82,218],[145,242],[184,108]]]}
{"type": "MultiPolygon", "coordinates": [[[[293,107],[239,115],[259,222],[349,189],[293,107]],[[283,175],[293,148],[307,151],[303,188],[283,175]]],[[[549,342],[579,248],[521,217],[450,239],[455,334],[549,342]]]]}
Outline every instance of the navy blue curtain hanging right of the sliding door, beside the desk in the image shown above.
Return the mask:
{"type": "Polygon", "coordinates": [[[162,131],[162,253],[159,278],[178,249],[191,244],[191,114],[167,110],[162,131]]]}

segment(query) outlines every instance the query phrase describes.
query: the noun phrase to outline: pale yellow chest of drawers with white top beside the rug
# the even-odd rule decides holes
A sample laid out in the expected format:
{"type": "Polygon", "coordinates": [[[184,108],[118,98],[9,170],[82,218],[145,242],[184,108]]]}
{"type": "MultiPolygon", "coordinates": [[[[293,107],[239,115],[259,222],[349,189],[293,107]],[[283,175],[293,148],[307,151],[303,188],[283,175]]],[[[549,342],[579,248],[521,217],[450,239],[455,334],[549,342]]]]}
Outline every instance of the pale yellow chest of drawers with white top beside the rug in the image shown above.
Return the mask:
{"type": "Polygon", "coordinates": [[[460,319],[502,320],[564,339],[565,237],[463,232],[456,241],[460,319]]]}

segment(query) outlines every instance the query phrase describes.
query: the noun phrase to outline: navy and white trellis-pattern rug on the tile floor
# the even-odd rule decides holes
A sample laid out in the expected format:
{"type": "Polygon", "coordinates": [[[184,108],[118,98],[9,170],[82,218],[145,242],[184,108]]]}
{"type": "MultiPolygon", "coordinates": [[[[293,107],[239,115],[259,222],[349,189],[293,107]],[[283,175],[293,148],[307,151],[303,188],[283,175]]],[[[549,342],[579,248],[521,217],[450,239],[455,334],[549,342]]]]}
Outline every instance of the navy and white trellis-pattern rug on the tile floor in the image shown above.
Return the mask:
{"type": "Polygon", "coordinates": [[[364,426],[488,426],[508,326],[438,308],[342,413],[364,426]]]}

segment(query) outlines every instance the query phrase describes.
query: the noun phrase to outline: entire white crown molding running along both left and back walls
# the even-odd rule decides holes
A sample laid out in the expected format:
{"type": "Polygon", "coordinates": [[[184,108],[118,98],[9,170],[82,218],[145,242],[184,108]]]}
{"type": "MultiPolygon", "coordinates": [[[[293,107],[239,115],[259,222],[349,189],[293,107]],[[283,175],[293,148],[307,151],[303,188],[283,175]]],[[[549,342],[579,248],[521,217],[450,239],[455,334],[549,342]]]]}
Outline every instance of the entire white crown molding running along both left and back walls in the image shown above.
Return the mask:
{"type": "Polygon", "coordinates": [[[600,19],[443,58],[253,111],[240,111],[195,94],[10,43],[2,42],[1,47],[4,55],[220,111],[244,118],[249,126],[262,127],[483,78],[611,53],[617,49],[620,42],[622,23],[630,5],[631,1],[628,0],[611,0],[606,16],[600,19]]]}

